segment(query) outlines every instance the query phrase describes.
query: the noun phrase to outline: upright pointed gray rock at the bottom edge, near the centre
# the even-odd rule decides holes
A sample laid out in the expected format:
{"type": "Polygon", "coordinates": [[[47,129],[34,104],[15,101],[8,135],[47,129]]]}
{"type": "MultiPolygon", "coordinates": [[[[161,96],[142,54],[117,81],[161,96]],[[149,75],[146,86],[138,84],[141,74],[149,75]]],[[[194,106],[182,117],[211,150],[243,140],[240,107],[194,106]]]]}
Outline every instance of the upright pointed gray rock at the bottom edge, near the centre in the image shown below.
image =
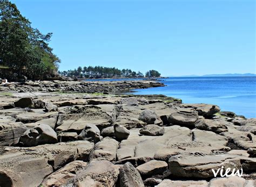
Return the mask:
{"type": "Polygon", "coordinates": [[[126,162],[123,167],[120,168],[119,175],[121,187],[144,187],[139,171],[134,168],[130,162],[126,162]]]}

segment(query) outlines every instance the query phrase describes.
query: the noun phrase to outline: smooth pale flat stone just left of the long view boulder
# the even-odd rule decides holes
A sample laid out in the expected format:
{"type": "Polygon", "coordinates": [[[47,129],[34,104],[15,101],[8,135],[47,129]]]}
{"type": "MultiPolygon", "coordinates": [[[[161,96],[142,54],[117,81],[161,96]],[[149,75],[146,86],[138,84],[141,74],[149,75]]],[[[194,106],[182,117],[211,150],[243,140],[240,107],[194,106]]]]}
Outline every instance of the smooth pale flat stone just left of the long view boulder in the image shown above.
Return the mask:
{"type": "Polygon", "coordinates": [[[168,164],[164,161],[151,160],[146,162],[136,169],[138,169],[140,175],[142,176],[152,176],[163,174],[163,172],[168,168],[168,164]]]}

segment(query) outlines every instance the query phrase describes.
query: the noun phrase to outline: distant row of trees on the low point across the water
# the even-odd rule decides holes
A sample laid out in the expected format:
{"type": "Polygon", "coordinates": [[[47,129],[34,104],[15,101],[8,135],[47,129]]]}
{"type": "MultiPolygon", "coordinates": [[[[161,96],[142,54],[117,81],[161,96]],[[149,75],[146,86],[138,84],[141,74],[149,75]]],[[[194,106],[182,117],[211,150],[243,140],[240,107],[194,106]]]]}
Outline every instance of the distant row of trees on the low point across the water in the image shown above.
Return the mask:
{"type": "MultiPolygon", "coordinates": [[[[74,70],[59,71],[60,75],[79,78],[113,78],[113,77],[144,77],[144,74],[131,69],[117,69],[102,66],[78,67],[74,70]]],[[[147,71],[145,77],[160,77],[156,70],[147,71]]]]}

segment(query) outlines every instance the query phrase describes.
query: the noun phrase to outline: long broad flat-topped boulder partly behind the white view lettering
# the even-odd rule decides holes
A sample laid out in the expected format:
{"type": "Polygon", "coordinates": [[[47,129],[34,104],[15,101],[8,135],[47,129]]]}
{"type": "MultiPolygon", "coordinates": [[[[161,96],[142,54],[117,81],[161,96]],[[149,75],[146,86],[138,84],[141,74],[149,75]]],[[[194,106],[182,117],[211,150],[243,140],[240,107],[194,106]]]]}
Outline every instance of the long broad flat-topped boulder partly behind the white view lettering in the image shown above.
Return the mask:
{"type": "MultiPolygon", "coordinates": [[[[204,154],[200,152],[181,153],[169,159],[169,170],[176,177],[214,177],[212,169],[217,171],[231,168],[250,171],[255,168],[256,160],[234,154],[204,154]]],[[[218,172],[218,176],[220,173],[218,172]]]]}

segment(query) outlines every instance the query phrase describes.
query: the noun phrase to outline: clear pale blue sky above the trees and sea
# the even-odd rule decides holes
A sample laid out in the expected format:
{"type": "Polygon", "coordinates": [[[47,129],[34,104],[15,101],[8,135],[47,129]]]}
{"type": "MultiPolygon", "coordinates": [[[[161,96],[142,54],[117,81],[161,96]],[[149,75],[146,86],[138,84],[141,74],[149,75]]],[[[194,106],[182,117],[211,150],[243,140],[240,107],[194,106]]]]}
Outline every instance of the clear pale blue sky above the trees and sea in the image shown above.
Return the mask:
{"type": "Polygon", "coordinates": [[[53,32],[60,70],[156,69],[168,75],[255,73],[254,0],[11,0],[53,32]]]}

